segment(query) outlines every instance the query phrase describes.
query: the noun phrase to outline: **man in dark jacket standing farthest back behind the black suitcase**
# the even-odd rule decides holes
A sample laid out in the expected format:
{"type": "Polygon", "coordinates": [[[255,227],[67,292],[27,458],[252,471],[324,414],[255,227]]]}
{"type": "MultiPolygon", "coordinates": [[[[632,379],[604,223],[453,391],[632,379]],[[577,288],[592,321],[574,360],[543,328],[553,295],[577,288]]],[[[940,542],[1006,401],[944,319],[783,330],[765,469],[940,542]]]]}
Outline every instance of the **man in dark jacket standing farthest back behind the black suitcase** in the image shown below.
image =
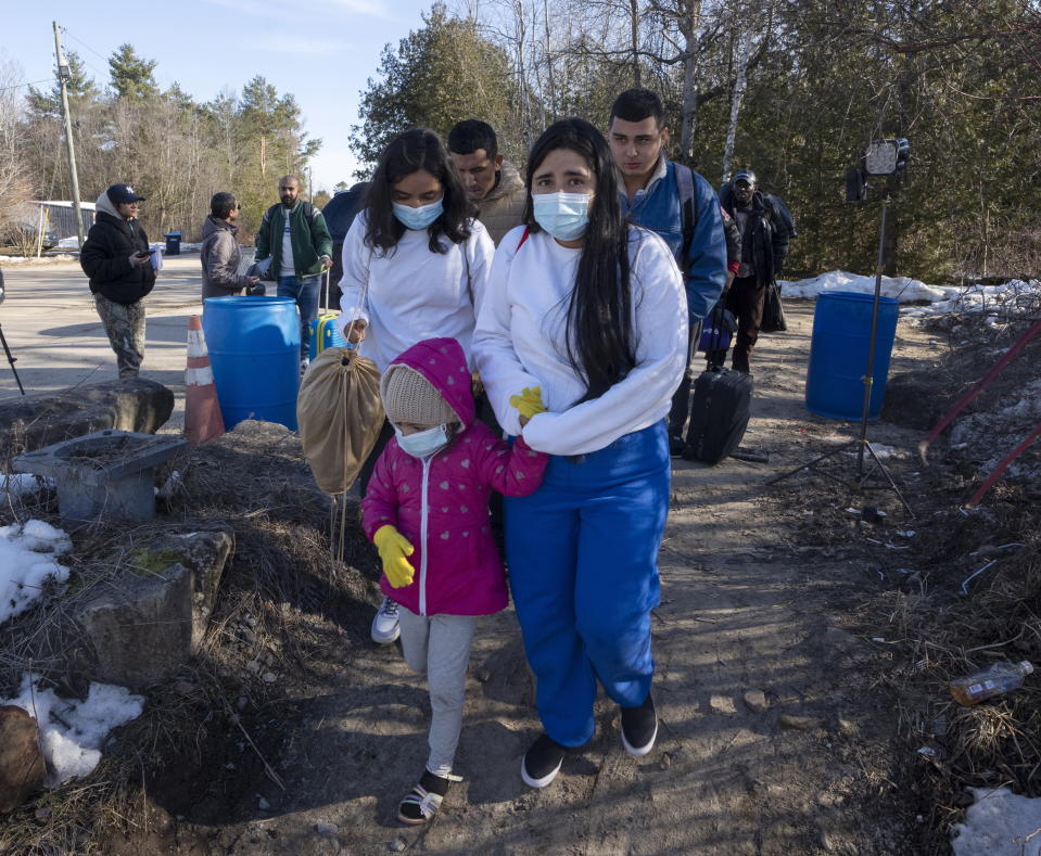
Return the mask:
{"type": "MultiPolygon", "coordinates": [[[[733,367],[749,373],[749,359],[763,322],[766,286],[780,273],[788,241],[796,233],[795,223],[779,199],[759,189],[751,169],[738,170],[720,190],[720,201],[741,230],[741,263],[727,292],[726,308],[737,316],[733,367]]],[[[726,350],[711,357],[722,365],[726,350]]]]}

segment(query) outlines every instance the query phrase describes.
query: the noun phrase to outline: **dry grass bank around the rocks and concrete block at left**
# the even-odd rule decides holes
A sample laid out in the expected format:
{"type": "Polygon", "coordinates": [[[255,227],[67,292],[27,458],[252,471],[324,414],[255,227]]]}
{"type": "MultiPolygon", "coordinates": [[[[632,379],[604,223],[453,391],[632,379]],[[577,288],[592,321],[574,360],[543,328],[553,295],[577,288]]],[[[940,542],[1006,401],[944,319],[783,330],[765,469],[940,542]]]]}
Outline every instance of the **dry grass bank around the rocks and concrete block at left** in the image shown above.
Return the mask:
{"type": "MultiPolygon", "coordinates": [[[[69,621],[75,604],[100,582],[134,571],[140,549],[172,525],[234,532],[207,636],[192,661],[148,689],[144,713],[115,732],[89,777],[40,794],[0,825],[4,856],[102,853],[112,830],[145,833],[155,805],[189,814],[190,804],[178,809],[177,800],[198,797],[210,781],[228,795],[206,810],[231,819],[237,789],[252,795],[261,781],[279,779],[279,741],[266,737],[263,721],[333,678],[363,636],[376,597],[372,553],[348,514],[345,561],[332,561],[330,503],[290,432],[246,423],[173,462],[157,484],[173,469],[177,486],[154,524],[76,533],[63,559],[72,571],[67,589],[0,627],[0,692],[15,689],[28,669],[59,691],[85,692],[87,680],[68,665],[69,652],[84,644],[69,621]],[[268,672],[276,682],[262,680],[268,672]],[[232,756],[233,769],[226,769],[232,756]]],[[[53,495],[0,509],[0,516],[15,515],[60,525],[53,495]]]]}

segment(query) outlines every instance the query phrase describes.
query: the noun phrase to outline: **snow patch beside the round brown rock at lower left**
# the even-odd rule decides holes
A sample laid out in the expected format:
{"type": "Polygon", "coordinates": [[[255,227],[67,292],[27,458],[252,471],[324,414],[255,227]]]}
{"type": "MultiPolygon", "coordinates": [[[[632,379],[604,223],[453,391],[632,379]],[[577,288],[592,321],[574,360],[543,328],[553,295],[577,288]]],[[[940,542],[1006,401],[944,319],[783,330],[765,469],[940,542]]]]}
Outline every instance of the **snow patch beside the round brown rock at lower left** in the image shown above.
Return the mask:
{"type": "Polygon", "coordinates": [[[33,716],[40,729],[40,745],[48,768],[48,782],[56,788],[76,776],[87,776],[101,761],[101,744],[113,728],[137,719],[144,698],[125,687],[91,683],[86,701],[60,699],[53,690],[39,688],[39,678],[26,673],[13,704],[33,716]]]}

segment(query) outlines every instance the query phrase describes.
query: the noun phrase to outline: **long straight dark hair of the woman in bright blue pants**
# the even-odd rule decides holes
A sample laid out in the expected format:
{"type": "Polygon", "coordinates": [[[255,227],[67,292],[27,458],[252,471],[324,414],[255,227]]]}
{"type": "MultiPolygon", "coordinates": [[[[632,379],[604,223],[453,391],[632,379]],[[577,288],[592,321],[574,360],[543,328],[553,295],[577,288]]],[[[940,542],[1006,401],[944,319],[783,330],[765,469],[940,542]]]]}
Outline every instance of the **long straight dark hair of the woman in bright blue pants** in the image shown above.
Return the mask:
{"type": "Polygon", "coordinates": [[[546,156],[567,149],[579,154],[596,177],[589,205],[574,290],[568,305],[568,359],[585,380],[582,401],[599,398],[636,365],[633,342],[629,269],[629,223],[622,218],[618,178],[611,150],[604,136],[585,119],[555,122],[532,146],[528,157],[528,205],[524,222],[532,232],[535,222],[531,197],[532,178],[546,156]]]}

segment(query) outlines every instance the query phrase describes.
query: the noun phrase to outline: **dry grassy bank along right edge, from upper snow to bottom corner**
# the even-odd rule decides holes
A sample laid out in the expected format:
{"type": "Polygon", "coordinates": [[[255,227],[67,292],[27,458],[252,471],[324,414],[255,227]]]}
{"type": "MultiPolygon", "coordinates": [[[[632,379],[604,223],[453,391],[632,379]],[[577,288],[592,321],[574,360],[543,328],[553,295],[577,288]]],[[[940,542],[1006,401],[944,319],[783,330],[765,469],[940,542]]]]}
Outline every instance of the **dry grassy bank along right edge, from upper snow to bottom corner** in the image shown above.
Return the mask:
{"type": "MultiPolygon", "coordinates": [[[[926,322],[950,345],[929,370],[939,401],[952,403],[975,384],[1041,315],[1036,294],[1013,295],[989,308],[990,321],[973,314],[926,322]]],[[[1041,375],[1039,366],[1041,335],[966,411],[982,426],[982,448],[951,449],[941,437],[925,469],[916,460],[887,461],[898,481],[911,470],[921,472],[912,501],[916,520],[910,524],[916,537],[897,541],[911,549],[898,552],[885,545],[891,539],[884,533],[904,520],[891,495],[875,501],[835,490],[823,480],[807,480],[812,487],[799,496],[792,488],[787,494],[792,508],[812,511],[792,518],[797,544],[816,545],[829,561],[855,560],[877,571],[877,589],[865,592],[859,619],[886,641],[879,644],[880,666],[866,680],[872,692],[897,700],[907,758],[904,790],[925,821],[918,852],[930,855],[950,853],[951,825],[972,804],[968,787],[1005,784],[1041,796],[1039,674],[1021,689],[975,707],[962,707],[948,691],[950,680],[1000,660],[1027,660],[1041,669],[1041,480],[1006,475],[980,508],[961,510],[989,471],[987,457],[1012,449],[1008,426],[993,414],[1023,397],[1041,375]],[[887,511],[890,523],[873,527],[843,510],[867,502],[887,511]]],[[[1028,449],[1021,463],[1027,473],[1041,472],[1041,444],[1028,449]]]]}

